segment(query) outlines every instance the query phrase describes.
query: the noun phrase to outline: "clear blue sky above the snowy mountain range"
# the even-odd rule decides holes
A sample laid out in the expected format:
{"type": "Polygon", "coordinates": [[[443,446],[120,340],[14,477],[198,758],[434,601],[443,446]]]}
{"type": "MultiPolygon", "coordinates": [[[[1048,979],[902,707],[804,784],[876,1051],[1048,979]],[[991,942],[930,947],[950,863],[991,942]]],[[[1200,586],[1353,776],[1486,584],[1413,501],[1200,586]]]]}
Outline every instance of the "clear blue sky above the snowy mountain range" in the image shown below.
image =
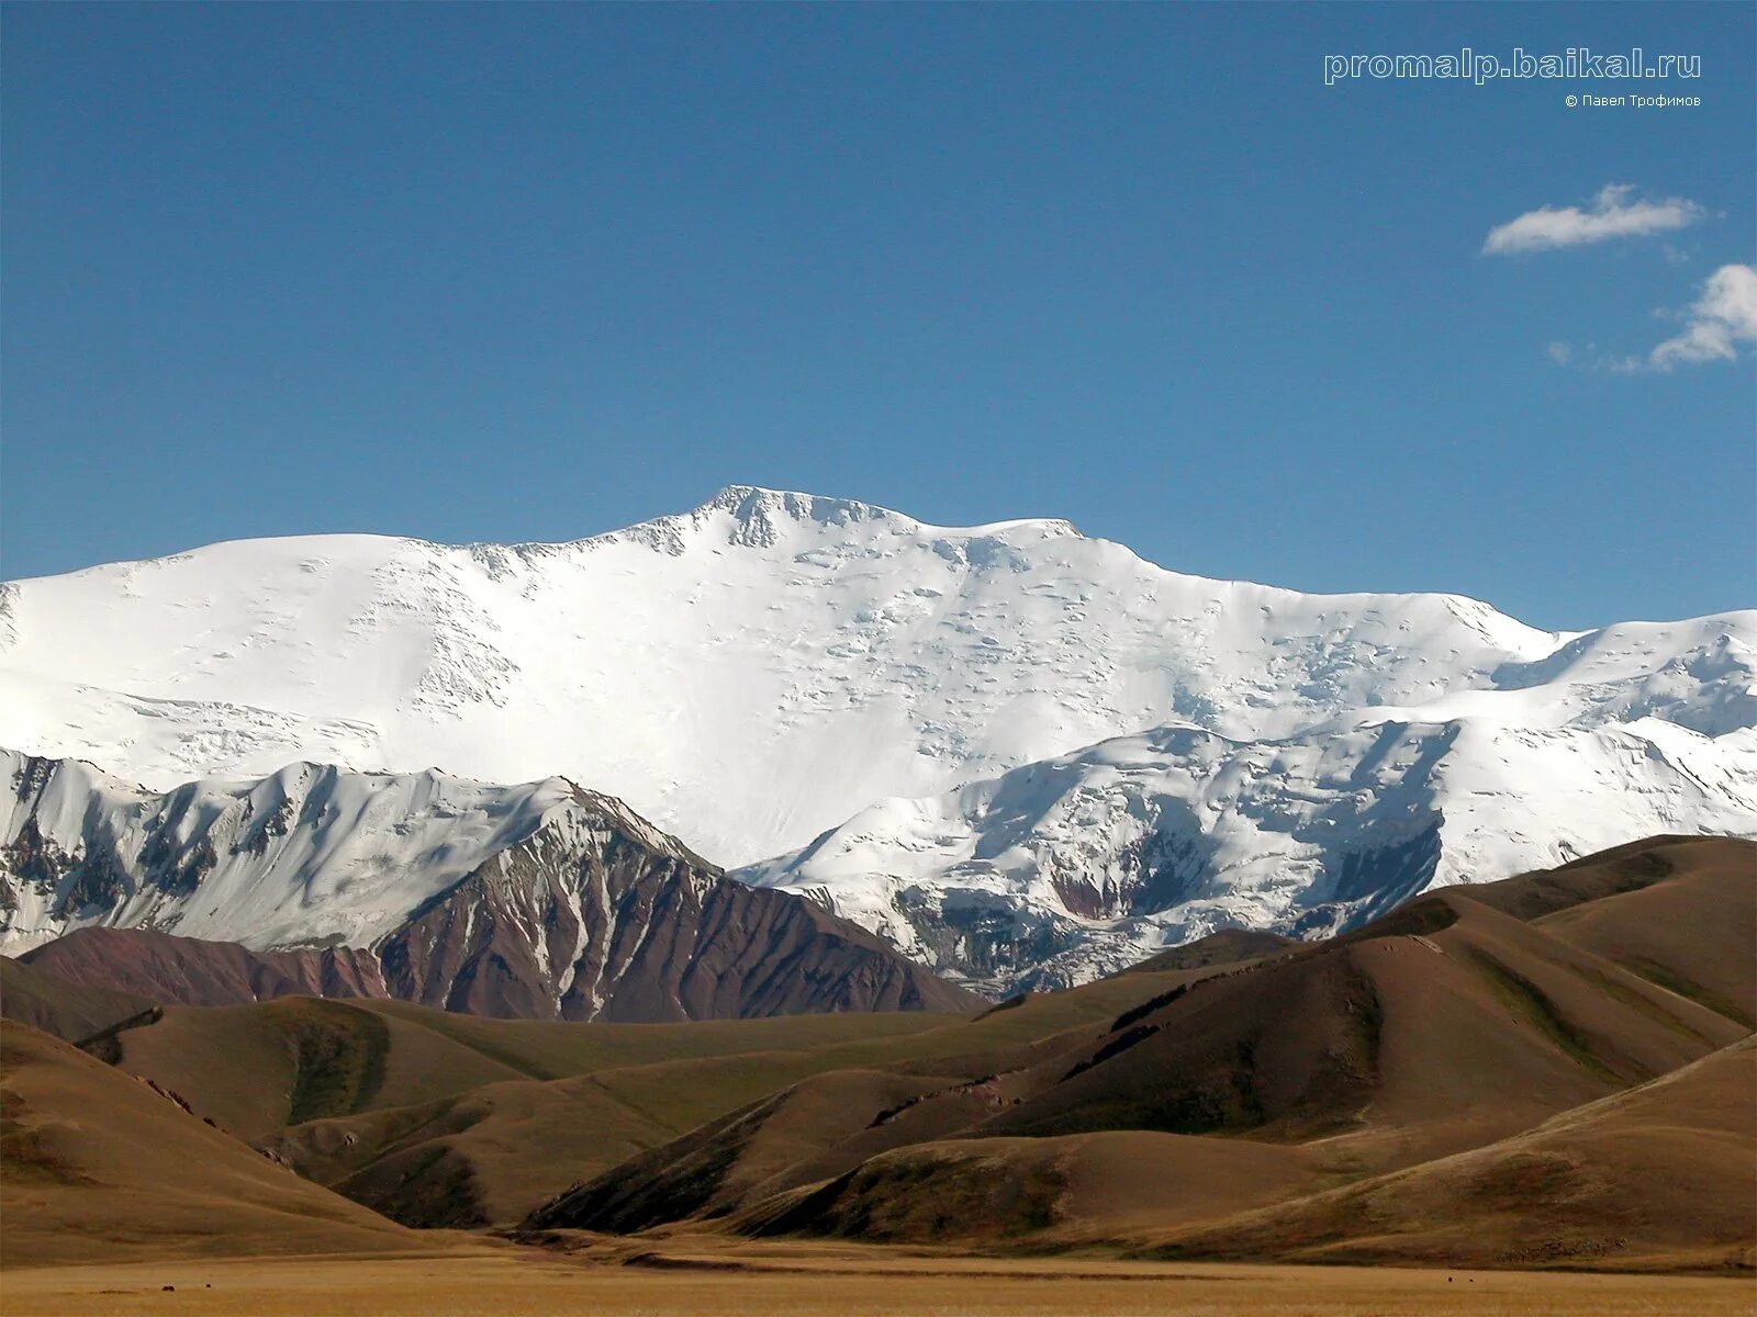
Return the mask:
{"type": "Polygon", "coordinates": [[[1652,351],[1757,258],[1753,14],[11,5],[0,569],[759,483],[1550,627],[1750,606],[1750,344],[1652,351]],[[1703,77],[1323,84],[1462,46],[1703,77]],[[1655,90],[1703,104],[1562,104],[1655,90]],[[1485,253],[1608,184],[1680,227],[1485,253]]]}

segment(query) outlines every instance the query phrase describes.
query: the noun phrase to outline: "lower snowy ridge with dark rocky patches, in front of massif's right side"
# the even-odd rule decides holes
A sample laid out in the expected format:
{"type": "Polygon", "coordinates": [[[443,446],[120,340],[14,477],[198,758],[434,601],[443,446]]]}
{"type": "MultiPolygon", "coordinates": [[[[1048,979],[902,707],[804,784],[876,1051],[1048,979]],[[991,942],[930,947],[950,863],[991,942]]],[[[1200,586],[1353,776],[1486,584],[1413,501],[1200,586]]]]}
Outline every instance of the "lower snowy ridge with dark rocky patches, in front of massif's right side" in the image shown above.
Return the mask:
{"type": "Polygon", "coordinates": [[[880,801],[738,876],[998,994],[1225,927],[1328,936],[1427,887],[1660,832],[1757,834],[1757,736],[1653,718],[1363,722],[1242,743],[1163,727],[880,801]]]}

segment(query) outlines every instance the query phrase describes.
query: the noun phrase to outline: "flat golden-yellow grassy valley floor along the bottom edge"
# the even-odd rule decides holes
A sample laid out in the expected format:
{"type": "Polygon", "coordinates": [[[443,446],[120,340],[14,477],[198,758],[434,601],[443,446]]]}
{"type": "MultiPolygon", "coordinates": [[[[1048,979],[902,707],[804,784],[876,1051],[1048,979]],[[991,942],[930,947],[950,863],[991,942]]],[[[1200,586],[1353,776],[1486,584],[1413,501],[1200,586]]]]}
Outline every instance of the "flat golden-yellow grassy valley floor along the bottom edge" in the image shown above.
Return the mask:
{"type": "MultiPolygon", "coordinates": [[[[683,1243],[683,1241],[676,1241],[683,1243]]],[[[411,1257],[177,1259],[11,1270],[7,1317],[555,1317],[842,1313],[861,1317],[1344,1317],[1348,1313],[1750,1313],[1750,1277],[1144,1264],[991,1259],[850,1247],[668,1247],[629,1264],[522,1249],[411,1257]],[[174,1285],[174,1289],[167,1289],[174,1285]]]]}

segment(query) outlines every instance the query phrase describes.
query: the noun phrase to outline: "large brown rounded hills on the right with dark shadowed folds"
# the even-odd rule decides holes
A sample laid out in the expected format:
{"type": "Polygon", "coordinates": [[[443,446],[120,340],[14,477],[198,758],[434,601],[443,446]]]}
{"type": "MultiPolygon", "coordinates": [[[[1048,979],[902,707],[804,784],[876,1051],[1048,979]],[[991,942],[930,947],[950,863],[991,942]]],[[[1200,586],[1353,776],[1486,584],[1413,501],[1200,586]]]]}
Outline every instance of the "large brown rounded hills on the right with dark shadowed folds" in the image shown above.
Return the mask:
{"type": "MultiPolygon", "coordinates": [[[[1327,943],[1182,975],[1126,973],[1105,987],[1135,990],[1096,1027],[936,1064],[819,1075],[611,1168],[527,1224],[694,1220],[764,1236],[987,1247],[1140,1247],[1179,1227],[1179,1256],[1291,1256],[1277,1243],[1283,1219],[1300,1231],[1318,1220],[1307,1233],[1323,1240],[1362,1203],[1365,1220],[1395,1217],[1418,1192],[1409,1185],[1437,1185],[1420,1189],[1437,1201],[1460,1184],[1434,1168],[1534,1164],[1536,1140],[1569,1148],[1573,1178],[1483,1169],[1469,1182],[1504,1175],[1495,1210],[1508,1220],[1520,1192],[1615,1199],[1622,1191],[1602,1185],[1634,1192],[1671,1161],[1678,1192],[1706,1196],[1701,1220],[1655,1206],[1618,1236],[1627,1245],[1609,1249],[1583,1227],[1541,1256],[1516,1256],[1495,1231],[1464,1249],[1460,1226],[1386,1243],[1383,1257],[1722,1266],[1752,1243],[1757,1090],[1741,1040],[1757,1008],[1753,889],[1752,843],[1655,839],[1421,896],[1327,943]],[[1648,1119],[1667,1094],[1687,1127],[1676,1138],[1648,1119]],[[1690,1106],[1690,1094],[1703,1101],[1690,1106]],[[1574,1117],[1581,1133],[1567,1134],[1574,1117]],[[1223,1227],[1204,1233],[1202,1222],[1235,1212],[1254,1213],[1240,1217],[1251,1229],[1237,1245],[1223,1247],[1223,1227]],[[1662,1217],[1673,1226],[1659,1229],[1662,1217]]],[[[1544,1155],[1560,1166],[1562,1154],[1544,1155]]],[[[1458,1192],[1488,1212],[1486,1191],[1458,1192]]],[[[1457,1217],[1471,1219],[1464,1208],[1457,1217]]]]}

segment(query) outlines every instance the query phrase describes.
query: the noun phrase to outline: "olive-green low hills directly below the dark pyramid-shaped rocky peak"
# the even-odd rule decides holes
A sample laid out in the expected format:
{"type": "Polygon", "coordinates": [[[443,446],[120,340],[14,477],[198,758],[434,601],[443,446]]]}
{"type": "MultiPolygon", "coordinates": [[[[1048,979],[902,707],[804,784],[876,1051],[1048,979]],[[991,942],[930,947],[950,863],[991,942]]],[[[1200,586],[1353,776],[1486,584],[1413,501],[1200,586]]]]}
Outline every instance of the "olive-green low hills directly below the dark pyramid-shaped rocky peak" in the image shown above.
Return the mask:
{"type": "MultiPolygon", "coordinates": [[[[1147,971],[975,1017],[664,1026],[281,997],[165,1008],[149,1027],[118,1034],[114,1059],[221,1129],[399,1220],[504,1224],[777,1087],[850,1068],[914,1069],[936,1085],[979,1076],[1019,1054],[1054,1052],[1063,1036],[1081,1041],[1142,992],[1202,973],[1211,969],[1147,971]]],[[[42,971],[35,978],[54,982],[42,971]]],[[[61,985],[47,999],[88,992],[61,985]]]]}

